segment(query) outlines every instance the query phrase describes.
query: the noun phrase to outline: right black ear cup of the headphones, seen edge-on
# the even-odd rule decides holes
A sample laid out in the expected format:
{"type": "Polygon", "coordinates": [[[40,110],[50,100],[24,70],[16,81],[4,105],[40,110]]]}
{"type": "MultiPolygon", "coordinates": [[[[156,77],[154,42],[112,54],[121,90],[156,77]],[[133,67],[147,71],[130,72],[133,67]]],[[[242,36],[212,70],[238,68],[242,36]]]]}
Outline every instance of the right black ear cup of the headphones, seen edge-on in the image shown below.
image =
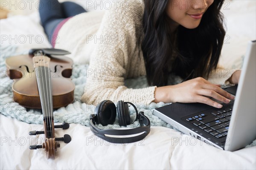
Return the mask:
{"type": "Polygon", "coordinates": [[[120,126],[127,126],[131,123],[130,112],[128,104],[122,100],[117,102],[117,114],[120,126]]]}

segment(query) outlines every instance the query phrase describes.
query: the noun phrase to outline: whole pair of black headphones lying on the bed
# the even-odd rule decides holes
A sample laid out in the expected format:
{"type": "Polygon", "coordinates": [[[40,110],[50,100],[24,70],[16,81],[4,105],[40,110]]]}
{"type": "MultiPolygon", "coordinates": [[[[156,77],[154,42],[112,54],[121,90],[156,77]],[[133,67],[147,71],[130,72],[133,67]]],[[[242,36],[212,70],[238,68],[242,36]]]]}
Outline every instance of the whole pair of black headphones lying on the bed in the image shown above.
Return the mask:
{"type": "Polygon", "coordinates": [[[103,100],[95,109],[95,114],[90,114],[90,130],[98,137],[111,142],[111,143],[132,143],[144,139],[150,132],[150,121],[144,115],[144,112],[138,113],[137,108],[131,102],[123,102],[122,100],[117,102],[117,114],[120,126],[127,126],[131,123],[130,112],[128,104],[132,105],[136,111],[136,119],[139,120],[140,127],[134,129],[99,129],[96,124],[102,124],[103,126],[113,124],[116,119],[116,105],[110,100],[103,100]],[[142,126],[144,124],[145,126],[142,126]],[[142,133],[138,136],[132,137],[110,137],[106,135],[134,135],[142,133]]]}

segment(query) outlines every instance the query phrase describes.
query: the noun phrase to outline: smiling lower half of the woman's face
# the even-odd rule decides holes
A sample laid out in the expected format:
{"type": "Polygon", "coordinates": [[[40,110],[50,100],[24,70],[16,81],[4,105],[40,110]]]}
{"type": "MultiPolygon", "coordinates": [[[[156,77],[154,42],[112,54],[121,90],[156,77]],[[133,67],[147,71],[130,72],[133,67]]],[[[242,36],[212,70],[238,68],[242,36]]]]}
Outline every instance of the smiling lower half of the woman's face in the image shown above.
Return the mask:
{"type": "Polygon", "coordinates": [[[169,0],[167,15],[173,26],[193,29],[199,26],[202,16],[214,0],[169,0]]]}

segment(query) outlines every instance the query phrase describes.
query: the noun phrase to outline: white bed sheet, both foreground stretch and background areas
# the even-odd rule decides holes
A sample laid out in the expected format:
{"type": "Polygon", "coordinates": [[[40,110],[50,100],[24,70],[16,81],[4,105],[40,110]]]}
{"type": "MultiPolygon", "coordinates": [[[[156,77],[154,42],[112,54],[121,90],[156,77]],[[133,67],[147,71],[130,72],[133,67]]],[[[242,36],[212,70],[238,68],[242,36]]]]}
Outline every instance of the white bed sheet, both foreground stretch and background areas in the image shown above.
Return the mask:
{"type": "MultiPolygon", "coordinates": [[[[241,60],[247,40],[256,39],[255,6],[255,1],[236,0],[224,11],[230,43],[224,44],[222,62],[241,60]]],[[[50,47],[38,13],[0,20],[0,31],[1,45],[11,41],[18,46],[18,52],[50,47]],[[3,39],[6,36],[8,40],[3,39]],[[9,36],[27,39],[14,42],[9,36]],[[36,36],[43,37],[43,41],[36,36]]],[[[72,141],[61,142],[56,159],[47,160],[44,150],[29,150],[30,144],[43,138],[40,135],[30,140],[31,130],[43,130],[43,126],[0,115],[1,169],[256,169],[256,147],[227,152],[165,127],[151,127],[145,140],[125,145],[109,144],[96,138],[88,127],[71,124],[68,130],[57,129],[55,136],[67,133],[72,141]]]]}

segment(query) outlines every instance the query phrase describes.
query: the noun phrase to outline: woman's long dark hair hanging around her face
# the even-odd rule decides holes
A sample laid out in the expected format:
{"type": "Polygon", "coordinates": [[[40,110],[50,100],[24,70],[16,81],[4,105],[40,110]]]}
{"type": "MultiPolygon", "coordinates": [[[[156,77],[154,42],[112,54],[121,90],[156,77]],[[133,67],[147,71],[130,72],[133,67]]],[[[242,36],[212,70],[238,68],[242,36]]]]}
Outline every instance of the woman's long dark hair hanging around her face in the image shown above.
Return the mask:
{"type": "Polygon", "coordinates": [[[225,30],[220,12],[224,0],[214,0],[195,29],[178,26],[175,36],[170,33],[166,14],[168,0],[144,0],[143,57],[149,85],[168,83],[169,59],[174,57],[172,73],[185,78],[207,78],[217,68],[225,30]]]}

